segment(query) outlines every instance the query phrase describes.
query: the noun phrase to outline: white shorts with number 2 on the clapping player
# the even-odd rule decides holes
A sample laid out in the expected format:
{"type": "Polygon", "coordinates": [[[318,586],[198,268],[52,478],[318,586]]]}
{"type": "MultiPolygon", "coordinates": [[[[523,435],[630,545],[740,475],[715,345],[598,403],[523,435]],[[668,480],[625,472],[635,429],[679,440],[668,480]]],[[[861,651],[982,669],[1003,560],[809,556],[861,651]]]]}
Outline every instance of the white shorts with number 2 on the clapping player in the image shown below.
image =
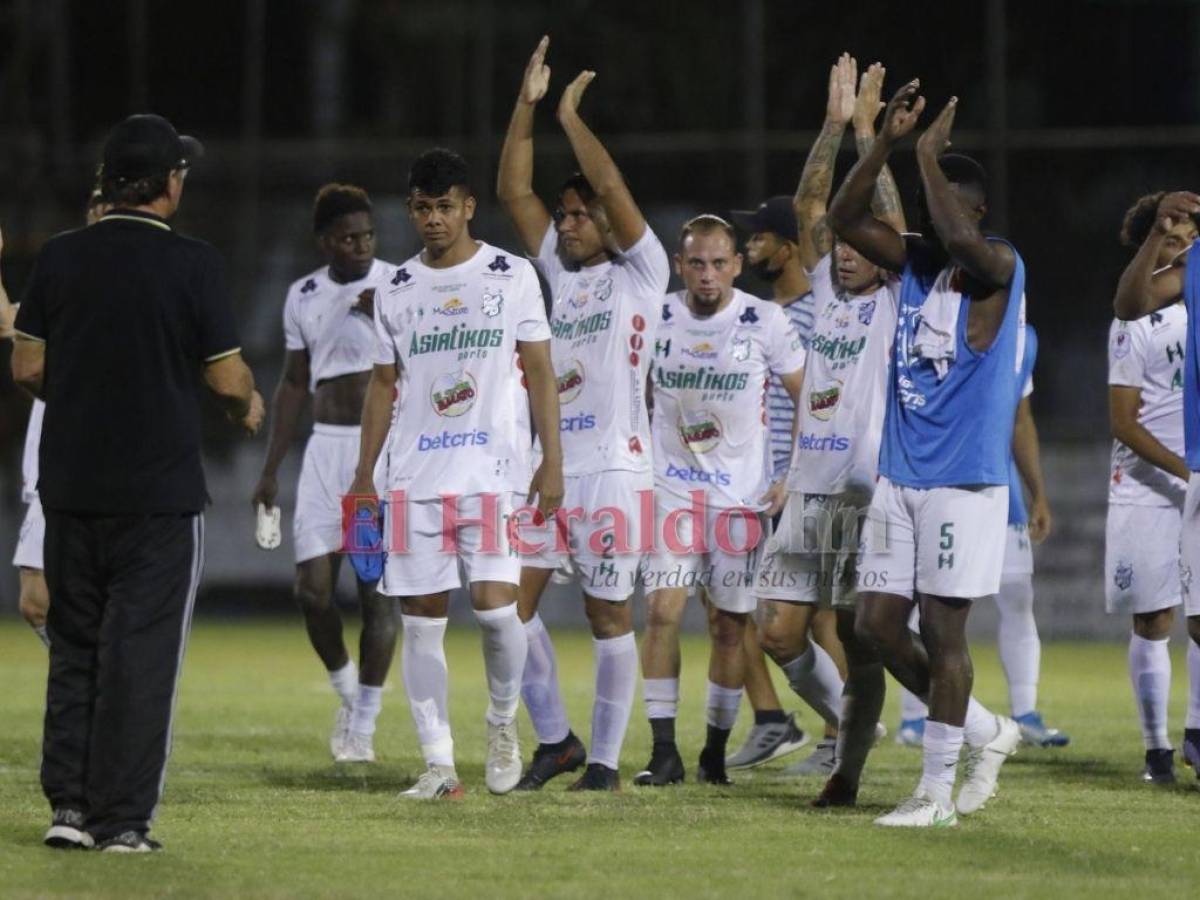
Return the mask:
{"type": "Polygon", "coordinates": [[[643,538],[643,518],[654,515],[654,473],[611,469],[565,479],[558,528],[522,527],[521,540],[542,545],[521,557],[532,569],[558,569],[570,556],[583,593],[599,600],[622,602],[637,587],[643,538]],[[646,516],[642,510],[646,497],[646,516]],[[570,515],[578,510],[578,514],[570,515]]]}

